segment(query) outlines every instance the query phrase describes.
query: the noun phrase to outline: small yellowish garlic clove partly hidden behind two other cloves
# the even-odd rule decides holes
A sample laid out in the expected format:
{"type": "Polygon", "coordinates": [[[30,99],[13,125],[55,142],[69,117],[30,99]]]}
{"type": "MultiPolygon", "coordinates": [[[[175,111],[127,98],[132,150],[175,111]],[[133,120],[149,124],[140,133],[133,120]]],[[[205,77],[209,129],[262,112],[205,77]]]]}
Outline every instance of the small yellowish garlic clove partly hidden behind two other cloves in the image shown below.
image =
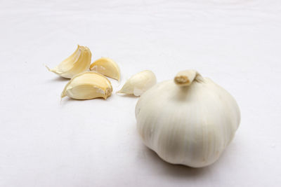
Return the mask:
{"type": "Polygon", "coordinates": [[[90,70],[114,78],[117,81],[120,79],[120,70],[117,63],[107,57],[102,57],[93,62],[90,66],[90,70]]]}

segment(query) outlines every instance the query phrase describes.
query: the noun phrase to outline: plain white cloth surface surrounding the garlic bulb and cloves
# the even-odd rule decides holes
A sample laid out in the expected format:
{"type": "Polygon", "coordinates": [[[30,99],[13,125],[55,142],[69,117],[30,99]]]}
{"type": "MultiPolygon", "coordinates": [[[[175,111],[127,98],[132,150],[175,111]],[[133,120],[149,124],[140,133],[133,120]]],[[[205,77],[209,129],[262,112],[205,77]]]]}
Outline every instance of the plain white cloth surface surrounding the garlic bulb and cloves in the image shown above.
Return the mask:
{"type": "Polygon", "coordinates": [[[281,1],[0,1],[0,186],[280,186],[281,1]],[[137,97],[77,101],[47,71],[88,46],[122,82],[197,69],[237,99],[235,139],[209,167],[170,165],[136,132],[137,97]]]}

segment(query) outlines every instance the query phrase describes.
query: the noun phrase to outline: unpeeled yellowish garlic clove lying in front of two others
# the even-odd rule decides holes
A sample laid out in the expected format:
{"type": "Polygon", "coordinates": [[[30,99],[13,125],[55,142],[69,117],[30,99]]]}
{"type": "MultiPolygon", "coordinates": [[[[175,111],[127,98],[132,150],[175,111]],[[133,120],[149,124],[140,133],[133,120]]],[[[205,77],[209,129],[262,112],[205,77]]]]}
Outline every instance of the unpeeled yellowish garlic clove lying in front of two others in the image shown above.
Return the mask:
{"type": "Polygon", "coordinates": [[[112,85],[108,79],[95,72],[86,71],[74,76],[65,85],[61,97],[71,97],[72,99],[94,99],[110,97],[112,85]]]}

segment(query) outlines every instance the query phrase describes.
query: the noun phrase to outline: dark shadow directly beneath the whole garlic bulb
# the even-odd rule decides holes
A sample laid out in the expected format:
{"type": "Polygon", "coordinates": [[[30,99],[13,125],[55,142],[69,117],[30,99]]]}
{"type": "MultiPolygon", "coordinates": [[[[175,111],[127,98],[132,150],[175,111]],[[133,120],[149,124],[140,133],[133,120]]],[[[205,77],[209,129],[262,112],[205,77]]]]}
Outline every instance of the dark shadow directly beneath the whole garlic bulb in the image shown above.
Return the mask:
{"type": "Polygon", "coordinates": [[[179,177],[179,178],[200,178],[211,172],[211,166],[207,167],[188,167],[185,165],[173,165],[168,162],[165,162],[160,158],[155,151],[152,151],[150,148],[145,147],[144,150],[147,159],[152,160],[152,162],[157,163],[162,168],[162,172],[169,176],[179,177]]]}

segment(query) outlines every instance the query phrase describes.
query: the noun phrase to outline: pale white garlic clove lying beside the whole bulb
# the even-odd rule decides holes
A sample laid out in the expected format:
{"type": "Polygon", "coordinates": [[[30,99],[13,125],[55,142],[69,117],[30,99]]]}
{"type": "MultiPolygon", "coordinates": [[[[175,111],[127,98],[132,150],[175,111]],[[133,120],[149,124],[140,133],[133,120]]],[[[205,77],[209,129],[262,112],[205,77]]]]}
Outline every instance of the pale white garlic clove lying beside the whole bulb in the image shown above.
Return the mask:
{"type": "Polygon", "coordinates": [[[156,84],[156,76],[150,70],[141,71],[129,78],[117,93],[140,96],[156,84]]]}

